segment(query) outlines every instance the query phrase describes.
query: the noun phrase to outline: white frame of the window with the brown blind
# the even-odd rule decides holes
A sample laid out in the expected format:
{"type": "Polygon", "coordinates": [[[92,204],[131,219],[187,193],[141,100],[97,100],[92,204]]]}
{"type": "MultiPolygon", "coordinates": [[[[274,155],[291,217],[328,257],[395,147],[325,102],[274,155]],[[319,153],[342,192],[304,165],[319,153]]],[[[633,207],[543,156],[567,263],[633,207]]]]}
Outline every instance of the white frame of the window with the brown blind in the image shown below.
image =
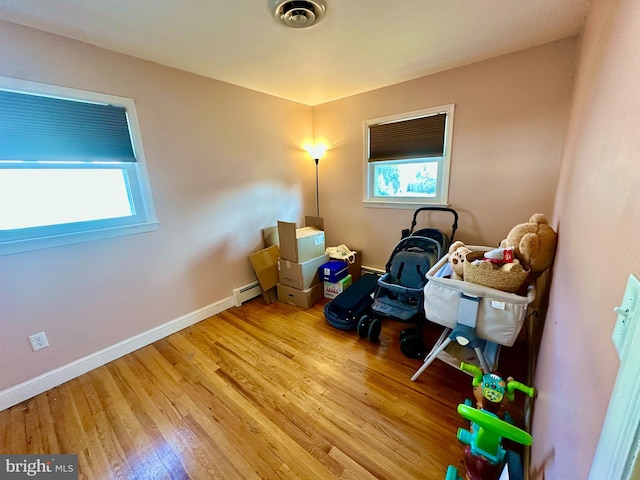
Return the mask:
{"type": "MultiPolygon", "coordinates": [[[[362,201],[365,207],[374,208],[399,208],[399,209],[415,209],[425,205],[449,205],[449,179],[451,173],[451,146],[453,144],[453,120],[454,120],[455,104],[446,104],[438,107],[426,108],[409,113],[402,113],[397,115],[391,115],[387,117],[375,118],[366,120],[364,122],[364,199],[362,201]],[[444,142],[443,142],[443,155],[441,157],[421,157],[421,158],[407,158],[388,161],[369,161],[369,132],[372,125],[378,125],[383,123],[401,122],[412,120],[415,118],[426,117],[430,115],[436,115],[444,113],[447,115],[444,142]],[[437,159],[437,160],[436,160],[437,159]],[[424,162],[437,161],[441,165],[441,174],[436,179],[437,191],[436,197],[420,197],[420,196],[375,196],[375,164],[379,165],[399,165],[408,163],[424,163],[424,162]]],[[[439,169],[440,170],[440,169],[439,169]]]]}

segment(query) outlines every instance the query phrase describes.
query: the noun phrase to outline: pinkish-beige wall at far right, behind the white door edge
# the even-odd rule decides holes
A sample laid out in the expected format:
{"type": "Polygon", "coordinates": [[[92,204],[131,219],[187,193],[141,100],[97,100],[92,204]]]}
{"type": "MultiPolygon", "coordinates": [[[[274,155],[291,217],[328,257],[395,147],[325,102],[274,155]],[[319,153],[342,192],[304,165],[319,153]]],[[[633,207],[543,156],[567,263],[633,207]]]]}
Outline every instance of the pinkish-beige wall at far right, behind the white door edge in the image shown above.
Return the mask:
{"type": "Polygon", "coordinates": [[[537,480],[587,478],[619,368],[613,307],[629,274],[640,273],[638,32],[637,1],[594,1],[555,207],[558,255],[536,377],[537,480]]]}

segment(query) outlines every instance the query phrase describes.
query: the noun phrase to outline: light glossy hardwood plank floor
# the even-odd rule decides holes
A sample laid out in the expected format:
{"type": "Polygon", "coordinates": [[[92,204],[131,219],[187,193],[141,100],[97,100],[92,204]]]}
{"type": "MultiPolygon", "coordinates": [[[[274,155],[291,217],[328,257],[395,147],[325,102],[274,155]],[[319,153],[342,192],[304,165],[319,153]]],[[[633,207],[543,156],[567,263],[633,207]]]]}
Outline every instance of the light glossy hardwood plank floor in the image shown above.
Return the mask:
{"type": "Polygon", "coordinates": [[[92,480],[444,479],[471,377],[436,360],[411,382],[407,324],[372,344],[324,303],[254,299],[4,410],[0,452],[78,454],[92,480]]]}

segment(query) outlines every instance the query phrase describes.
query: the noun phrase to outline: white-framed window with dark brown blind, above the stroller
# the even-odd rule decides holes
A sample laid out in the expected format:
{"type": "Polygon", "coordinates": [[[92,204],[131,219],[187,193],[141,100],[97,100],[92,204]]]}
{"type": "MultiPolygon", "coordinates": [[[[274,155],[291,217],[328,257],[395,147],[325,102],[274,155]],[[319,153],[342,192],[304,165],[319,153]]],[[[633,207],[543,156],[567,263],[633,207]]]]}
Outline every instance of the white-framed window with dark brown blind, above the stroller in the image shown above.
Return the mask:
{"type": "Polygon", "coordinates": [[[448,203],[453,110],[451,104],[365,122],[365,204],[448,203]]]}

